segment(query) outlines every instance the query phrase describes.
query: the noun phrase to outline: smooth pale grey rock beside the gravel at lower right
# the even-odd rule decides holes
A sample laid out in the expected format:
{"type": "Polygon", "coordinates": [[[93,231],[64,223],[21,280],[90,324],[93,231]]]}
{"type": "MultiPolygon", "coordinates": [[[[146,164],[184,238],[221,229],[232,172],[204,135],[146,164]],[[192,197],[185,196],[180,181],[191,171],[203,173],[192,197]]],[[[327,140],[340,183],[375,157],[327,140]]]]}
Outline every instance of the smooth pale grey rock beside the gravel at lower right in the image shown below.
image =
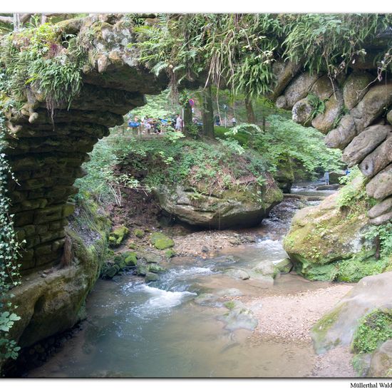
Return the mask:
{"type": "Polygon", "coordinates": [[[316,352],[349,346],[359,319],[374,309],[392,308],[392,272],[364,277],[311,330],[316,352]]]}

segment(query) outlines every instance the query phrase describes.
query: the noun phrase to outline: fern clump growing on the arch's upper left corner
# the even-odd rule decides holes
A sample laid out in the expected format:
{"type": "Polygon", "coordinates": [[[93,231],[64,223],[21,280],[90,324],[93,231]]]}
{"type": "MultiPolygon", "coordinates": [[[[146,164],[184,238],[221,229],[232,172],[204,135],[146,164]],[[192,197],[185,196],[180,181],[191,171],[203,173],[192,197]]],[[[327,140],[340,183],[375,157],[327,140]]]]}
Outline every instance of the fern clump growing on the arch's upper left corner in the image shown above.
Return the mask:
{"type": "Polygon", "coordinates": [[[81,68],[86,63],[86,51],[78,38],[42,24],[6,39],[0,57],[8,76],[3,92],[24,100],[26,89],[34,86],[43,93],[48,109],[59,103],[70,105],[81,89],[81,68]]]}

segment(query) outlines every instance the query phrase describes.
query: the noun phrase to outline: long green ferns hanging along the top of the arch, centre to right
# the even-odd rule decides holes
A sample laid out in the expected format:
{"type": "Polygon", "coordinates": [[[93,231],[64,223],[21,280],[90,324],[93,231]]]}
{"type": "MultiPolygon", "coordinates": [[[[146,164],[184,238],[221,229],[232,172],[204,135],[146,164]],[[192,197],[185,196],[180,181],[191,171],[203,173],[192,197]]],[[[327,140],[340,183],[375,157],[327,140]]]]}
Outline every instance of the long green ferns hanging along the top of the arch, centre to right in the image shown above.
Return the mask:
{"type": "MultiPolygon", "coordinates": [[[[161,14],[137,29],[136,46],[155,73],[167,72],[173,91],[206,72],[207,83],[255,97],[270,90],[277,58],[336,77],[389,25],[388,14],[161,14]]],[[[384,54],[379,71],[391,62],[384,54]]]]}

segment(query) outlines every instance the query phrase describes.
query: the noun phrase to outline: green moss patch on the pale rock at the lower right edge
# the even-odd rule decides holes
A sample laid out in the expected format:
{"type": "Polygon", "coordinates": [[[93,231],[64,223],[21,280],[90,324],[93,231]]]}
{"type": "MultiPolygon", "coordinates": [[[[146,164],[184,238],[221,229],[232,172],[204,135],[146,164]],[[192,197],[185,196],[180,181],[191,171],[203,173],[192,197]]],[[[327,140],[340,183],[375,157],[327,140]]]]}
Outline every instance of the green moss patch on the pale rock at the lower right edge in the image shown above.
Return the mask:
{"type": "Polygon", "coordinates": [[[352,346],[356,353],[370,353],[389,339],[392,339],[392,309],[375,309],[359,320],[352,346]]]}

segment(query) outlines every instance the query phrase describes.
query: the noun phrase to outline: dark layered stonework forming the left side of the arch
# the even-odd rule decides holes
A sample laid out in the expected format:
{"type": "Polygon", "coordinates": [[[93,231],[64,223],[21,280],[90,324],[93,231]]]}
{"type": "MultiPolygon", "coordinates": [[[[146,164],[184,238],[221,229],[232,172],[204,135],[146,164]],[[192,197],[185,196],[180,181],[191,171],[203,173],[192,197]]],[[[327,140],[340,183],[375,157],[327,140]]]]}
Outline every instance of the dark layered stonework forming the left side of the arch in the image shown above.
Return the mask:
{"type": "Polygon", "coordinates": [[[98,139],[123,124],[129,110],[144,105],[145,93],[167,86],[138,65],[128,48],[134,37],[120,16],[66,21],[61,29],[77,33],[91,48],[81,93],[69,108],[57,103],[52,115],[41,92],[31,88],[24,108],[6,113],[10,135],[5,153],[17,179],[9,181],[11,213],[18,237],[25,241],[24,274],[59,262],[64,227],[74,211],[68,199],[78,191],[73,183],[86,174],[81,165],[98,139]]]}

